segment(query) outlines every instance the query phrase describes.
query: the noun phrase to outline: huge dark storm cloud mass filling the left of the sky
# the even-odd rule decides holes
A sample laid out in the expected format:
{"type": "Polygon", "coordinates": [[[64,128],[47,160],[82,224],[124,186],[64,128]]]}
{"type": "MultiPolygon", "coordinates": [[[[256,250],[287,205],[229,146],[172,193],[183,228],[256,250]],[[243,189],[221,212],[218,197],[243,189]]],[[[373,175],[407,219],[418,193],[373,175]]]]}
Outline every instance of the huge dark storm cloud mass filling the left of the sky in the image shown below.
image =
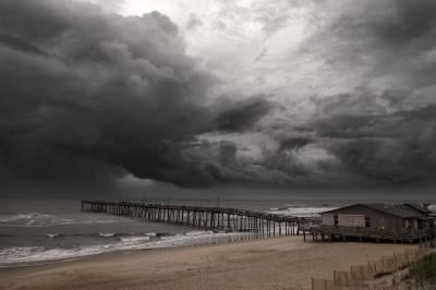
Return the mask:
{"type": "Polygon", "coordinates": [[[268,111],[259,98],[206,105],[214,77],[158,12],[123,17],[86,2],[3,0],[0,53],[0,168],[10,178],[131,172],[208,184],[220,167],[185,153],[194,136],[249,129],[268,111]]]}

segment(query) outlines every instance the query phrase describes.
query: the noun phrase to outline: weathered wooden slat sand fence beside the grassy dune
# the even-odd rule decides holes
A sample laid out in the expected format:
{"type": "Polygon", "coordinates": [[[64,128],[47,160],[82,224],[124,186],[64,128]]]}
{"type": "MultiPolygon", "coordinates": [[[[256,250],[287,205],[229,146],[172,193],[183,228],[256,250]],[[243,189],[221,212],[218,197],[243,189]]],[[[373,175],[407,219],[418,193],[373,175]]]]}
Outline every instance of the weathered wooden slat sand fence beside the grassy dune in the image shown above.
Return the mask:
{"type": "Polygon", "coordinates": [[[387,274],[409,267],[429,251],[424,247],[408,249],[391,256],[383,256],[378,261],[370,261],[367,265],[351,266],[349,271],[334,271],[334,279],[312,279],[312,290],[392,290],[398,287],[378,287],[370,285],[387,274]]]}

